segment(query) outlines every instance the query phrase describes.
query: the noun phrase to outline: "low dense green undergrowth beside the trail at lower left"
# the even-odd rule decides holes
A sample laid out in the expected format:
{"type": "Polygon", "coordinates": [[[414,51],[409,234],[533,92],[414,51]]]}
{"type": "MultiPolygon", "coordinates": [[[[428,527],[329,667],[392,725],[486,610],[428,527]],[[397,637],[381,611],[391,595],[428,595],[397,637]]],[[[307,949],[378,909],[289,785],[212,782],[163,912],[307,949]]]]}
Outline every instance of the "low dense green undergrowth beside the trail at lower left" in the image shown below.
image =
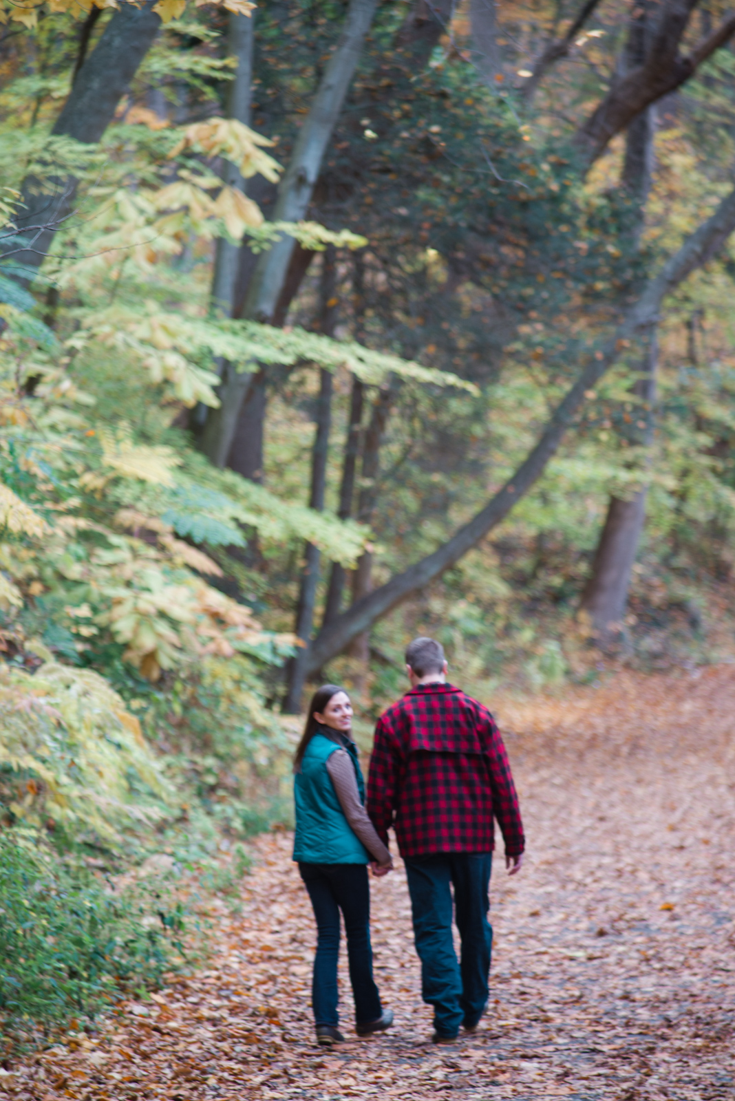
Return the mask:
{"type": "MultiPolygon", "coordinates": [[[[30,832],[0,831],[0,1021],[6,1050],[162,983],[184,950],[165,892],[74,872],[30,832]]],[[[47,1042],[47,1039],[46,1039],[47,1042]]]]}

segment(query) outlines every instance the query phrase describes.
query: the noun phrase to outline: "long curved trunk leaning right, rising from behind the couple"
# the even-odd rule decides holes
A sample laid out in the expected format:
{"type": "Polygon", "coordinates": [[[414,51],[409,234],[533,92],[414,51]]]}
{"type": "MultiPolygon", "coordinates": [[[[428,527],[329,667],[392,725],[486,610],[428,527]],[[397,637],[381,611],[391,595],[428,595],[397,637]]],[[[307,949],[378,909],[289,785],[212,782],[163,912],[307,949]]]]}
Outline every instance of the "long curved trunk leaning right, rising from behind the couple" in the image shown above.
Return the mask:
{"type": "Polygon", "coordinates": [[[348,611],[342,612],[315,640],[308,655],[308,671],[322,667],[341,653],[362,631],[390,612],[417,589],[428,585],[453,566],[468,550],[476,546],[489,532],[505,519],[540,478],[547,464],[559,448],[574,416],[591,390],[621,352],[656,325],[663,298],[696,268],[701,268],[723,247],[735,229],[735,189],[718,205],[714,214],[683,242],[644,287],[637,302],[627,310],[617,330],[607,341],[601,359],[590,359],[577,382],[569,389],[538,442],[505,486],[441,547],[415,563],[404,573],[373,589],[348,611]]]}

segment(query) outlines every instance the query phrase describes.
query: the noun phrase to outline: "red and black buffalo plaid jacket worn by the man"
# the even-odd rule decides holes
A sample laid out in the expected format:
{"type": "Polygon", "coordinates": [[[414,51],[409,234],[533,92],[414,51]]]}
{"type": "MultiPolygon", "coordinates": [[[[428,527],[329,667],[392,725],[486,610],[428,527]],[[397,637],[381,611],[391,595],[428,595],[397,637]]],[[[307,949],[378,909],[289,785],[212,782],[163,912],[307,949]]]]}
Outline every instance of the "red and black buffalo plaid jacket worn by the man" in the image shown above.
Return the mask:
{"type": "Polygon", "coordinates": [[[524,851],[518,797],[495,720],[448,684],[418,685],[377,720],[365,808],[402,857],[490,852],[493,817],[507,855],[524,851]]]}

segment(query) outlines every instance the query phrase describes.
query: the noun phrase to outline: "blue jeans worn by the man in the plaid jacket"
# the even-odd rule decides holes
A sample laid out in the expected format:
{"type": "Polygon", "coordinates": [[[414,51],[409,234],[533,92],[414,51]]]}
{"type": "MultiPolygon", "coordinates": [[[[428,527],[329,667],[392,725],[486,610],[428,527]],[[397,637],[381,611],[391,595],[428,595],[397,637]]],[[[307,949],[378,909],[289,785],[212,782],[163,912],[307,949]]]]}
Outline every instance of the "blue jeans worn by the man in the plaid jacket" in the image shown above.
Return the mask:
{"type": "Polygon", "coordinates": [[[492,859],[490,852],[445,852],[404,861],[421,960],[421,996],[434,1005],[434,1026],[441,1036],[456,1036],[462,1024],[475,1025],[487,1004],[492,859]],[[450,884],[462,938],[459,963],[452,941],[450,884]]]}

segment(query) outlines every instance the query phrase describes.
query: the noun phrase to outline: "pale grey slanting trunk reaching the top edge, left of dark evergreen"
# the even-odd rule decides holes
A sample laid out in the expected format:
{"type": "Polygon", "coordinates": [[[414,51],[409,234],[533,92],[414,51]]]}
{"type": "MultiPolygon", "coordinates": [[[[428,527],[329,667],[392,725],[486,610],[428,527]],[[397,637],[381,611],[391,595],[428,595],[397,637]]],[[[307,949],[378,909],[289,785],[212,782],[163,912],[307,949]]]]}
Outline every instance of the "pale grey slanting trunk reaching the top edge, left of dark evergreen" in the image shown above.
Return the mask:
{"type": "MultiPolygon", "coordinates": [[[[342,110],[376,7],[377,0],[350,0],[342,34],[278,185],[274,221],[299,221],[306,216],[323,155],[342,110]]],[[[293,251],[293,238],[284,237],[262,253],[248,287],[244,317],[273,321],[293,251]]],[[[252,375],[245,372],[228,370],[220,390],[222,404],[207,417],[202,447],[215,466],[224,466],[230,454],[240,407],[250,389],[251,379],[252,375]]]]}

